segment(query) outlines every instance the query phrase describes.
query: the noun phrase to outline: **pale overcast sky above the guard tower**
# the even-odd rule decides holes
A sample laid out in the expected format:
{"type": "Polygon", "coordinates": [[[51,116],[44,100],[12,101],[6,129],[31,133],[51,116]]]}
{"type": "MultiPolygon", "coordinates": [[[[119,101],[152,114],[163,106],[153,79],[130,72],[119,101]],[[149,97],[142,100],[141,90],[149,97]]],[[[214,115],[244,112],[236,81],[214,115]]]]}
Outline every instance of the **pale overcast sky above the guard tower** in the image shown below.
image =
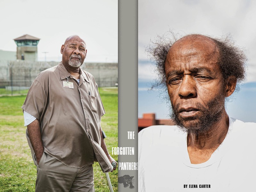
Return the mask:
{"type": "Polygon", "coordinates": [[[41,40],[38,60],[60,61],[60,47],[71,35],[87,44],[85,61],[117,62],[117,0],[1,0],[0,49],[16,51],[14,38],[25,34],[41,40]]]}

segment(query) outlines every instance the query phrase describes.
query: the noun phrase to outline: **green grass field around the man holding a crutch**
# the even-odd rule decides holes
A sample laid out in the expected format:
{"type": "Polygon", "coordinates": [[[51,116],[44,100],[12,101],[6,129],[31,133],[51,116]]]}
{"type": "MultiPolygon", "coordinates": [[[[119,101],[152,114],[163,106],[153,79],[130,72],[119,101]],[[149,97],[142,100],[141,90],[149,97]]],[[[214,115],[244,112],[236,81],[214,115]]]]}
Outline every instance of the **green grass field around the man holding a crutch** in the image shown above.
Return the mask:
{"type": "MultiPolygon", "coordinates": [[[[100,96],[106,114],[101,127],[107,135],[105,139],[111,155],[112,147],[117,147],[117,89],[100,88],[100,96]]],[[[26,127],[22,109],[26,96],[0,97],[0,191],[35,191],[36,166],[25,136],[26,127]]],[[[117,161],[117,156],[112,156],[117,161]]],[[[94,163],[95,191],[107,192],[108,183],[98,163],[94,163]]],[[[114,191],[117,191],[117,170],[109,173],[114,191]]]]}

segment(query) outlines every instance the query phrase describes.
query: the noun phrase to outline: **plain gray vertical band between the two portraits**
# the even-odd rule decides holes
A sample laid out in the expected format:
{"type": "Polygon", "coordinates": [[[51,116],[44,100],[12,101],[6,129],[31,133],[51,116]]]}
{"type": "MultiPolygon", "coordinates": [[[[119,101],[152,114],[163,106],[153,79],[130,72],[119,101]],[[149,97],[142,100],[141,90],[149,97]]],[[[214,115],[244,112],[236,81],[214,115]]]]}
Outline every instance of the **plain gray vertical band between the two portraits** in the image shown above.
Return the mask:
{"type": "MultiPolygon", "coordinates": [[[[134,155],[119,155],[118,164],[138,162],[138,0],[118,1],[118,147],[134,147],[134,155]],[[134,131],[128,140],[127,131],[134,131]]],[[[134,188],[118,183],[118,192],[138,191],[138,171],[118,170],[133,176],[134,188]]],[[[121,181],[119,180],[119,181],[121,181]]]]}

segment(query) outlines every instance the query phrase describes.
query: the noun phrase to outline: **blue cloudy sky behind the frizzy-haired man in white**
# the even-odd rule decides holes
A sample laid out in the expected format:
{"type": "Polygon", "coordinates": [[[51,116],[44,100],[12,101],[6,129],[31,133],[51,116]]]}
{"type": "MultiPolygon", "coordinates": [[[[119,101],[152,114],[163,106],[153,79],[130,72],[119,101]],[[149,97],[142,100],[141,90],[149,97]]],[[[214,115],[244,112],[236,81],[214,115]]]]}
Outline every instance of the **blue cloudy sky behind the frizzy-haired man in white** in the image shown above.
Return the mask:
{"type": "Polygon", "coordinates": [[[139,0],[138,4],[138,116],[154,112],[168,118],[169,106],[156,91],[148,91],[156,77],[145,48],[169,29],[180,35],[199,33],[213,37],[231,34],[248,56],[247,81],[226,102],[228,114],[256,122],[256,1],[251,0],[139,0]]]}

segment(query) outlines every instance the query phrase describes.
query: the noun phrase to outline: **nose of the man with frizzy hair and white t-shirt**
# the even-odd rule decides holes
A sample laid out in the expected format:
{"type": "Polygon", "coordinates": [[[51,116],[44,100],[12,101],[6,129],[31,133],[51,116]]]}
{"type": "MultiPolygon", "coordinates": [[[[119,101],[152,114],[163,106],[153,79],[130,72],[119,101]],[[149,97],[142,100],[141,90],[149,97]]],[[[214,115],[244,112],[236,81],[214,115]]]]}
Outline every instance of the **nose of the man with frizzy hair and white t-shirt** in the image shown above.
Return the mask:
{"type": "Polygon", "coordinates": [[[179,96],[182,98],[196,97],[196,82],[193,77],[185,76],[179,88],[179,96]]]}

